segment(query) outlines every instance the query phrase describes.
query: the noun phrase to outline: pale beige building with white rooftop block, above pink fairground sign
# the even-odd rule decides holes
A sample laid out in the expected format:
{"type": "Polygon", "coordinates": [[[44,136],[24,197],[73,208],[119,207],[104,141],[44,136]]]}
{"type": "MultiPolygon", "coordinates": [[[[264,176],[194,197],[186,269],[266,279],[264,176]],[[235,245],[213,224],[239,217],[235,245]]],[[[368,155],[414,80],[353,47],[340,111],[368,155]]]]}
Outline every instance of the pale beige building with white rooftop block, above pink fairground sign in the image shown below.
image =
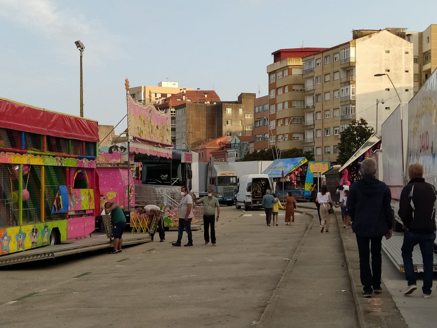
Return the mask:
{"type": "Polygon", "coordinates": [[[180,88],[178,82],[162,81],[158,86],[134,86],[129,94],[142,104],[159,104],[163,99],[193,88],[180,88]]]}

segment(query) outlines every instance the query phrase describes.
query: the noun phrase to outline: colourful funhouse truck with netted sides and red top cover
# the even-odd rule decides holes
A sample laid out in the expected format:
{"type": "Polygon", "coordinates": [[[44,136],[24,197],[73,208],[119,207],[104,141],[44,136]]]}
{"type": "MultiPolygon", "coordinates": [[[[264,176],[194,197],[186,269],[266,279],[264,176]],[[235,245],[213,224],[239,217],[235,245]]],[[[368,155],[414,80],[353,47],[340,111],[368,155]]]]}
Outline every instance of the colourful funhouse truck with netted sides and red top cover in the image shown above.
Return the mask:
{"type": "Polygon", "coordinates": [[[94,231],[97,121],[0,98],[0,255],[94,231]]]}

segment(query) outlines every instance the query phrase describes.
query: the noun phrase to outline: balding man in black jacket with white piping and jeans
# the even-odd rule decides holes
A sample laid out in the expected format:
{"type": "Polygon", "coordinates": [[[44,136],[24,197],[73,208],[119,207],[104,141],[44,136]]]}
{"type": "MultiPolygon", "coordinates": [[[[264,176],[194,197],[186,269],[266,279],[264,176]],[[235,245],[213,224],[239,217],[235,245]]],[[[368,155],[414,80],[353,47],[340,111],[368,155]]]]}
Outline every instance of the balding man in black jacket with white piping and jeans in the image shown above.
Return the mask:
{"type": "Polygon", "coordinates": [[[436,189],[422,178],[423,167],[420,164],[411,164],[408,175],[410,181],[403,187],[398,211],[405,226],[402,259],[408,287],[403,294],[409,295],[417,289],[412,253],[414,246],[419,244],[424,269],[422,293],[423,297],[430,298],[436,239],[436,189]]]}

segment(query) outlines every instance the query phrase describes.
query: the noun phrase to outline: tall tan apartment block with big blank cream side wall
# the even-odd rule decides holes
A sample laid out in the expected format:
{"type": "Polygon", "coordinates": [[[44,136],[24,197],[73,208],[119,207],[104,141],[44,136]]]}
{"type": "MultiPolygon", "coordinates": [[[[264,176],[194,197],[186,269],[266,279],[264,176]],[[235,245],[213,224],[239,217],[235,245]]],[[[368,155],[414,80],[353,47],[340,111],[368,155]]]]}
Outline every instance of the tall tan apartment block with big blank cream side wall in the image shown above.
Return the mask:
{"type": "Polygon", "coordinates": [[[354,31],[353,40],[303,58],[303,151],[316,160],[336,161],[339,133],[352,121],[380,133],[413,96],[413,43],[393,32],[354,31]]]}

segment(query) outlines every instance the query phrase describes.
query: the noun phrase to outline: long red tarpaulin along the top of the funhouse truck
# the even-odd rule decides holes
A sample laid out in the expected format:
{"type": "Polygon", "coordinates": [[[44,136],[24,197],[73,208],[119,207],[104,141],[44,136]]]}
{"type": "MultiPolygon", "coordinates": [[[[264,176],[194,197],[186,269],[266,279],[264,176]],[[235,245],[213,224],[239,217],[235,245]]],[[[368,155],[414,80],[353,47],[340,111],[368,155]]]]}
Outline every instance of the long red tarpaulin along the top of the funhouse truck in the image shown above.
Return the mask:
{"type": "Polygon", "coordinates": [[[0,98],[0,127],[40,135],[98,142],[97,121],[51,112],[0,98]]]}

